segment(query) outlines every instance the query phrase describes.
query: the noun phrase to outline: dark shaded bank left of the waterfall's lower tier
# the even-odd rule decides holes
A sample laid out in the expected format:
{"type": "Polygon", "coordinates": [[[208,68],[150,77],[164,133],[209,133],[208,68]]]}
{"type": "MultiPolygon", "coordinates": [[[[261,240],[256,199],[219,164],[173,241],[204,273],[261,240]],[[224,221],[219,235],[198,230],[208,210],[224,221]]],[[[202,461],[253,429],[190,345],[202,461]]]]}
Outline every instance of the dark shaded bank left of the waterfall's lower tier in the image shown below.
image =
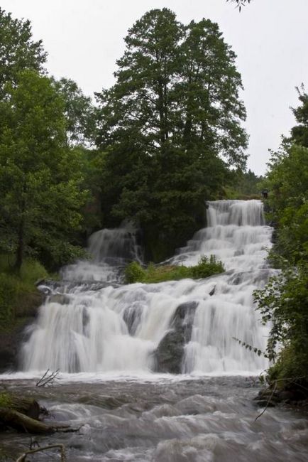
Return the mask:
{"type": "Polygon", "coordinates": [[[18,351],[26,335],[26,326],[33,322],[43,299],[43,294],[37,290],[18,294],[14,316],[0,326],[0,372],[18,367],[18,351]]]}

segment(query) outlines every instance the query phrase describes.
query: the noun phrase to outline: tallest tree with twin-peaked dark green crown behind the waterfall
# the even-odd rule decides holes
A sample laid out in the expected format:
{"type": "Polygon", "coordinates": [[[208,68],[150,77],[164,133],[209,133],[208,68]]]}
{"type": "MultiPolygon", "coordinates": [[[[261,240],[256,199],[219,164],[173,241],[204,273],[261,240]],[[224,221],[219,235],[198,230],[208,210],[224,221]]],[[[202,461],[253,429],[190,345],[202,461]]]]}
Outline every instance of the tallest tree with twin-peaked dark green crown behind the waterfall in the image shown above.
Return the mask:
{"type": "Polygon", "coordinates": [[[138,221],[158,259],[201,224],[204,200],[221,193],[228,165],[246,163],[241,77],[211,21],[183,26],[169,9],[155,9],[125,42],[115,85],[97,95],[104,215],[113,225],[138,221]],[[158,243],[165,249],[155,252],[158,243]]]}

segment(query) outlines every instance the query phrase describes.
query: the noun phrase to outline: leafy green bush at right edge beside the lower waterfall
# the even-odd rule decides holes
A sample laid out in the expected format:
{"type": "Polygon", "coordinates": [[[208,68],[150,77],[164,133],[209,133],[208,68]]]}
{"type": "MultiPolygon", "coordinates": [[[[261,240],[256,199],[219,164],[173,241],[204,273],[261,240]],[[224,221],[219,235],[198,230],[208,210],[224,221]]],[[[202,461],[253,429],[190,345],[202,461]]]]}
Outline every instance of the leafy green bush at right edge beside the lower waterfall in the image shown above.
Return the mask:
{"type": "Polygon", "coordinates": [[[306,386],[303,384],[308,382],[307,263],[283,269],[270,279],[265,289],[255,291],[254,298],[263,323],[271,323],[266,353],[276,362],[268,370],[268,381],[279,382],[281,388],[287,388],[292,381],[306,386]]]}

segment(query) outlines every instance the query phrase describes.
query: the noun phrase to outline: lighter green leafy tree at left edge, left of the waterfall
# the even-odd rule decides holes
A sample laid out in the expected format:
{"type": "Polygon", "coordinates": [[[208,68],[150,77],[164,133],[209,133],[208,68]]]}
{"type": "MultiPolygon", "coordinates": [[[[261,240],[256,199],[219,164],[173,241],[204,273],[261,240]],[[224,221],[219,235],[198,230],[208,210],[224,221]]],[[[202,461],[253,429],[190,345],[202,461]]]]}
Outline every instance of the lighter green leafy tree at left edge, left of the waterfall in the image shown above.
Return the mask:
{"type": "Polygon", "coordinates": [[[84,202],[79,159],[67,148],[64,102],[48,77],[19,72],[0,102],[1,249],[37,254],[49,267],[75,256],[70,244],[84,202]]]}

